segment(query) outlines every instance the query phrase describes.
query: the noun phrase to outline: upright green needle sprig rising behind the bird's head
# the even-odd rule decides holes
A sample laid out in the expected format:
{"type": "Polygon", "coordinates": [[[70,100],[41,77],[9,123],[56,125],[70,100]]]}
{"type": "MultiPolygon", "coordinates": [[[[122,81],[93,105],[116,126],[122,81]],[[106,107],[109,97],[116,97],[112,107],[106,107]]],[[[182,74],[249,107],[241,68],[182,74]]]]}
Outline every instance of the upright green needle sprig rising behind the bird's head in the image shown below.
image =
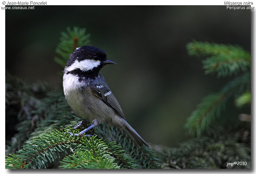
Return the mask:
{"type": "Polygon", "coordinates": [[[86,34],[85,28],[67,28],[67,32],[61,32],[60,43],[56,48],[57,57],[54,60],[64,67],[68,62],[69,55],[77,48],[90,44],[90,34],[86,34]]]}

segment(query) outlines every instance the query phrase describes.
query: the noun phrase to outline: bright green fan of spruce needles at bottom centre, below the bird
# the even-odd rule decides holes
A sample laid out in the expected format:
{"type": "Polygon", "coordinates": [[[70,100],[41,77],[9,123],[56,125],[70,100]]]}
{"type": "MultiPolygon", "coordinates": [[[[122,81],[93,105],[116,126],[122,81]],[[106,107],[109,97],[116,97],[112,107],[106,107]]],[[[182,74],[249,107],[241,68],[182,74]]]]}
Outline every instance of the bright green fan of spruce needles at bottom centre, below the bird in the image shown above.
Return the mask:
{"type": "Polygon", "coordinates": [[[125,154],[120,145],[109,140],[100,141],[101,139],[90,138],[90,141],[84,142],[75,150],[75,156],[70,155],[61,162],[61,168],[78,167],[78,168],[120,168],[117,163],[122,163],[126,168],[136,168],[134,160],[125,154]],[[80,161],[80,162],[79,162],[80,161]],[[78,162],[78,163],[77,163],[78,162]],[[79,164],[75,166],[74,164],[79,164]],[[71,166],[72,165],[72,166],[71,166]]]}

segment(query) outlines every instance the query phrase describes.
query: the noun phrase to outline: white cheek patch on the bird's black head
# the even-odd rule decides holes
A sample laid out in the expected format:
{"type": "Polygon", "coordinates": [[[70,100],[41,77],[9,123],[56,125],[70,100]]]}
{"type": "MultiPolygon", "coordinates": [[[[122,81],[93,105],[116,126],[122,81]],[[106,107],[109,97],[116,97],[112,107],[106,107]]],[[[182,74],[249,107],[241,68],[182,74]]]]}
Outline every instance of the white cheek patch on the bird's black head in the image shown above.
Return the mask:
{"type": "Polygon", "coordinates": [[[76,60],[71,66],[67,68],[68,71],[80,69],[82,71],[92,70],[93,68],[100,65],[99,60],[85,59],[80,62],[76,60]]]}

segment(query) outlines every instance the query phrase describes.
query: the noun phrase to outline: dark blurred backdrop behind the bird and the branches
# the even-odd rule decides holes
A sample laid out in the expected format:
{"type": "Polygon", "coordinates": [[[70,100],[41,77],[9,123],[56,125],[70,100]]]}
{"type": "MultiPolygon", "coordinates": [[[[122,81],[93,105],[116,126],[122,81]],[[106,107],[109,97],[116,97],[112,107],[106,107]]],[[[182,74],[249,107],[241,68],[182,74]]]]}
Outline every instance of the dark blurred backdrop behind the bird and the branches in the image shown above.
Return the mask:
{"type": "MultiPolygon", "coordinates": [[[[62,85],[53,58],[60,32],[86,28],[91,45],[117,62],[101,70],[128,123],[147,142],[176,146],[184,123],[229,78],[204,75],[190,57],[192,39],[237,44],[250,51],[250,10],[226,6],[35,6],[6,10],[6,70],[30,82],[62,85]]],[[[230,105],[233,105],[231,103],[230,105]]],[[[234,111],[234,119],[240,112],[234,111]]]]}

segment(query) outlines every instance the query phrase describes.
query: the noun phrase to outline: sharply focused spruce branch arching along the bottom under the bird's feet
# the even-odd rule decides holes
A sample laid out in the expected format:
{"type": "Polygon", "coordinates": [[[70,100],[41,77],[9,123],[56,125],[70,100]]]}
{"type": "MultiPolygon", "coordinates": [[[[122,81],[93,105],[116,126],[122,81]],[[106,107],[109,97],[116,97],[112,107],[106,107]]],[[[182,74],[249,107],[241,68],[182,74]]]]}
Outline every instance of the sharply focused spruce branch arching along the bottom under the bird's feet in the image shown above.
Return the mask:
{"type": "MultiPolygon", "coordinates": [[[[12,158],[7,158],[6,168],[21,168],[21,166],[23,166],[22,168],[47,168],[48,162],[53,162],[56,158],[60,158],[60,153],[67,155],[70,152],[73,153],[74,157],[82,155],[79,152],[92,154],[91,158],[87,158],[87,160],[83,161],[83,164],[80,164],[86,165],[86,161],[92,160],[94,163],[90,164],[95,166],[87,166],[87,168],[97,168],[99,166],[118,167],[113,162],[115,157],[122,159],[130,168],[135,168],[134,161],[130,159],[129,155],[123,153],[124,150],[119,150],[120,148],[121,146],[116,145],[115,142],[96,139],[95,136],[87,139],[85,136],[70,136],[65,129],[62,132],[53,130],[49,134],[43,134],[37,139],[32,140],[30,144],[24,145],[17,152],[17,155],[11,155],[12,158]],[[73,149],[76,150],[74,151],[73,149]],[[97,163],[99,159],[101,161],[97,163]],[[25,166],[24,164],[28,165],[25,166]]],[[[74,165],[72,161],[69,162],[74,165]]],[[[62,162],[62,164],[65,163],[67,161],[62,162]]]]}

